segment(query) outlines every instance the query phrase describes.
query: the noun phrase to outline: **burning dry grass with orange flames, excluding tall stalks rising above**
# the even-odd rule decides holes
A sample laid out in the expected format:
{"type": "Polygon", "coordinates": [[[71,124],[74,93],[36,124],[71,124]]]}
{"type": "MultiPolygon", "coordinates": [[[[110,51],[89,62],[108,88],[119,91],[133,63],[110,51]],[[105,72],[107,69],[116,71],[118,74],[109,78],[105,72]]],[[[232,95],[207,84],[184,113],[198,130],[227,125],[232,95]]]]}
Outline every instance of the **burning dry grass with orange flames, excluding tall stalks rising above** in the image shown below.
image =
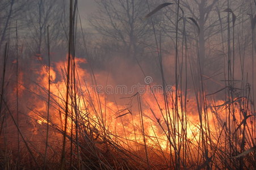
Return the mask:
{"type": "MultiPolygon", "coordinates": [[[[192,95],[187,95],[186,108],[182,108],[182,96],[175,107],[175,88],[166,94],[167,101],[163,94],[148,91],[146,94],[128,97],[129,104],[118,105],[107,101],[105,95],[98,94],[93,88],[96,86],[79,85],[81,80],[88,80],[93,76],[79,66],[79,63],[86,61],[75,61],[77,83],[70,84],[70,87],[75,87],[77,91],[69,94],[66,168],[232,168],[237,160],[242,160],[247,168],[254,166],[255,113],[252,112],[248,97],[237,97],[232,103],[208,97],[207,109],[199,114],[198,105],[192,95]],[[230,107],[233,109],[231,116],[234,117],[229,121],[230,107]],[[239,156],[246,150],[251,152],[244,154],[244,157],[239,156]]],[[[30,106],[24,111],[20,109],[24,113],[20,116],[23,121],[19,120],[18,132],[16,115],[4,100],[9,115],[5,113],[6,123],[1,130],[4,134],[1,145],[5,146],[2,149],[3,167],[18,166],[18,158],[22,162],[19,167],[60,168],[65,126],[66,70],[64,62],[55,65],[54,69],[51,68],[50,76],[49,118],[49,74],[46,66],[37,70],[36,82],[28,87],[22,86],[19,90],[20,100],[26,100],[26,96],[30,96],[30,106]],[[64,79],[57,80],[57,77],[64,79]],[[22,137],[19,141],[19,152],[16,148],[16,135],[11,135],[17,133],[22,137]],[[46,140],[47,157],[44,156],[46,140]]],[[[92,80],[91,83],[93,82],[92,80]]],[[[146,88],[150,88],[150,85],[146,88]]]]}

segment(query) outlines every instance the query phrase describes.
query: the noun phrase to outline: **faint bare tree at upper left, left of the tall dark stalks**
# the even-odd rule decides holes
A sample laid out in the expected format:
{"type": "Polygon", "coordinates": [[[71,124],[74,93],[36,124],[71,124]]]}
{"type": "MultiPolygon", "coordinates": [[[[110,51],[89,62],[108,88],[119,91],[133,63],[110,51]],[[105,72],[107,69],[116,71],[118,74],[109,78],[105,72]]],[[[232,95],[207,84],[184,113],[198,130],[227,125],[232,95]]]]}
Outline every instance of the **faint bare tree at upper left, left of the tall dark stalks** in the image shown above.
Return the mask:
{"type": "MultiPolygon", "coordinates": [[[[31,49],[36,49],[34,53],[41,54],[42,50],[47,51],[47,27],[49,26],[49,41],[54,46],[60,44],[60,37],[64,34],[64,2],[62,0],[36,0],[33,1],[32,8],[27,12],[28,37],[32,40],[31,49]],[[62,27],[63,25],[63,27],[62,27]]],[[[28,42],[30,43],[30,42],[28,42]]]]}

